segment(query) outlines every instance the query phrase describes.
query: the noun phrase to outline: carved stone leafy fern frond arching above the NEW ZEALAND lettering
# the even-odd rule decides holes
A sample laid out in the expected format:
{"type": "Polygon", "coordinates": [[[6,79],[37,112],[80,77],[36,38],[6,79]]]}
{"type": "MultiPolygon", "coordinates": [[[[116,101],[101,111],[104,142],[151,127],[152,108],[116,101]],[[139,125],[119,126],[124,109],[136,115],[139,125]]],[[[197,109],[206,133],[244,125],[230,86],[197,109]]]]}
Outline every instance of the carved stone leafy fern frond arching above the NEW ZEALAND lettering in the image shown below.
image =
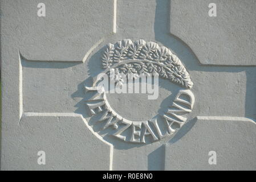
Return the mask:
{"type": "Polygon", "coordinates": [[[101,57],[104,69],[115,68],[115,75],[151,74],[168,79],[185,88],[192,88],[193,82],[180,59],[170,49],[143,39],[132,42],[124,39],[108,44],[101,57]]]}

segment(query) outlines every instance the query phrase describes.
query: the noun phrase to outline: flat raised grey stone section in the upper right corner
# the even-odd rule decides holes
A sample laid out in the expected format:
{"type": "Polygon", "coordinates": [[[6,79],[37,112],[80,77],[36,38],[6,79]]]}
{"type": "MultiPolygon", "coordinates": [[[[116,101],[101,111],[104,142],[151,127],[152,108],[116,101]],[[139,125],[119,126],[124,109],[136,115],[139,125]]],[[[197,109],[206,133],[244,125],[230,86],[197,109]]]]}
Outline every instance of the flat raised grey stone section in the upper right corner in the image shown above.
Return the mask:
{"type": "Polygon", "coordinates": [[[255,0],[172,0],[170,33],[184,41],[201,64],[255,65],[255,8],[255,0]],[[216,3],[216,17],[208,15],[210,3],[216,3]]]}

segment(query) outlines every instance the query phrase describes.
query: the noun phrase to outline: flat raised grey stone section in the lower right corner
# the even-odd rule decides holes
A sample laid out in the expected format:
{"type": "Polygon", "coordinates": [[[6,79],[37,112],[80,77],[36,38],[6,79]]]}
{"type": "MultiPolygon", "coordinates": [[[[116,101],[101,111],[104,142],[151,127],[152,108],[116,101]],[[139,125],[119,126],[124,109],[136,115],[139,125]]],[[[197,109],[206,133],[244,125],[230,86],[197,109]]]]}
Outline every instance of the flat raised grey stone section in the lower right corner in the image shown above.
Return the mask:
{"type": "Polygon", "coordinates": [[[255,170],[254,131],[255,122],[249,119],[198,117],[188,133],[166,144],[165,169],[255,170]],[[216,165],[209,165],[209,151],[216,151],[216,165]]]}

